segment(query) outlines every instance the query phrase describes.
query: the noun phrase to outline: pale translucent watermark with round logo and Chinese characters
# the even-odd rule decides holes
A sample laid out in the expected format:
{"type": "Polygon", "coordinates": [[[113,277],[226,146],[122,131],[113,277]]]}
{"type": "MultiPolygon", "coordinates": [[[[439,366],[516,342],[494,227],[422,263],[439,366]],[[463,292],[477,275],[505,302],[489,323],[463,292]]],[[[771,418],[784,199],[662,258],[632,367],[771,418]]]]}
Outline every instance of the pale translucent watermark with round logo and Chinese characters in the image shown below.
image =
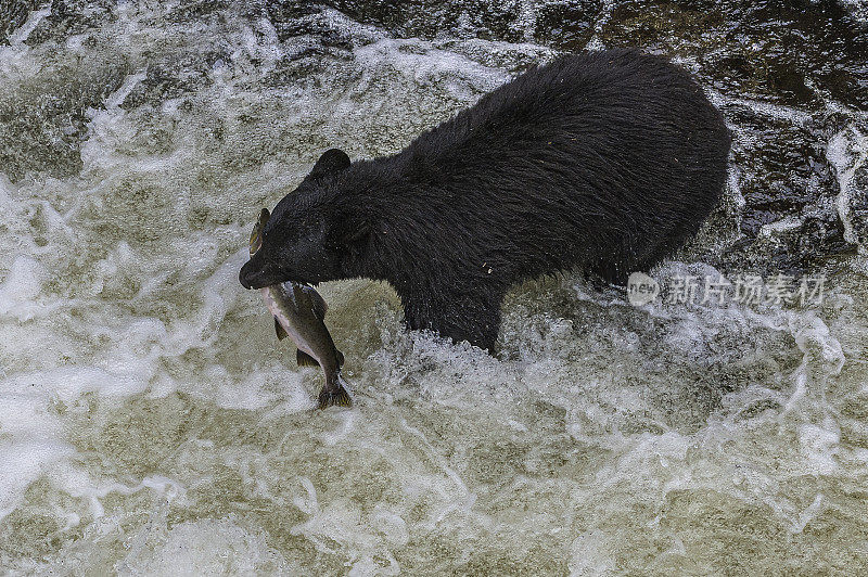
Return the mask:
{"type": "Polygon", "coordinates": [[[805,307],[822,304],[826,277],[793,277],[774,274],[763,278],[758,274],[738,274],[732,281],[723,274],[694,275],[674,274],[666,283],[666,291],[661,284],[643,272],[634,272],[627,280],[627,300],[640,307],[654,302],[663,294],[663,303],[668,305],[705,305],[709,303],[725,305],[797,305],[805,307]]]}

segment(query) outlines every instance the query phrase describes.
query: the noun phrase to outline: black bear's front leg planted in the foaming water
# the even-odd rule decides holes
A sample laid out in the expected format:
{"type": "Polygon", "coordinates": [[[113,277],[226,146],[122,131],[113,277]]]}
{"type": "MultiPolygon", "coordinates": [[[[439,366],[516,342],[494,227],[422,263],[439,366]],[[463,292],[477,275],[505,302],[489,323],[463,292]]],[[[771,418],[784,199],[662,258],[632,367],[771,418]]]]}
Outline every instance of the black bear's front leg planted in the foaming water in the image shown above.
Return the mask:
{"type": "Polygon", "coordinates": [[[467,341],[494,354],[502,299],[499,291],[493,294],[456,294],[451,298],[439,295],[436,302],[408,299],[404,309],[405,321],[409,329],[431,329],[455,343],[467,341]]]}

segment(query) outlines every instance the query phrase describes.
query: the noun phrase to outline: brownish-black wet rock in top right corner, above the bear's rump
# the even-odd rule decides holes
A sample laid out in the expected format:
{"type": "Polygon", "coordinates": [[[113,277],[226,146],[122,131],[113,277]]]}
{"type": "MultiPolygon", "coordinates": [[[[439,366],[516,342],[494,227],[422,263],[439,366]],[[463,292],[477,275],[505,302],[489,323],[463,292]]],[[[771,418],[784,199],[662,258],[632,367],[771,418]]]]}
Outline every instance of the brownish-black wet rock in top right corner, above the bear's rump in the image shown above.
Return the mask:
{"type": "Polygon", "coordinates": [[[827,94],[868,103],[868,25],[831,0],[620,2],[600,38],[694,60],[729,93],[814,108],[827,94]]]}

